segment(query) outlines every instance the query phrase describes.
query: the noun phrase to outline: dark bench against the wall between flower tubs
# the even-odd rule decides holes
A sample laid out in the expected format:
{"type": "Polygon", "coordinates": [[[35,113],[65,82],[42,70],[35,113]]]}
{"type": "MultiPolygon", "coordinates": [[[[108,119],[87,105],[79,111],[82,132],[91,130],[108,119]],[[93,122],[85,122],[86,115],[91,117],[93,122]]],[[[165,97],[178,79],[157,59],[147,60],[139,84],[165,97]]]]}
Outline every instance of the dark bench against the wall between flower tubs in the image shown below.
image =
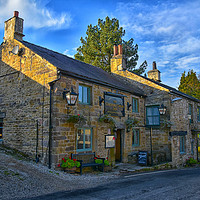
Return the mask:
{"type": "Polygon", "coordinates": [[[79,154],[71,154],[72,159],[76,159],[80,162],[80,174],[82,175],[82,171],[84,167],[96,167],[102,166],[102,171],[104,172],[104,160],[105,158],[99,158],[95,156],[95,153],[79,153],[79,154]],[[95,163],[95,159],[102,159],[102,163],[95,163]]]}

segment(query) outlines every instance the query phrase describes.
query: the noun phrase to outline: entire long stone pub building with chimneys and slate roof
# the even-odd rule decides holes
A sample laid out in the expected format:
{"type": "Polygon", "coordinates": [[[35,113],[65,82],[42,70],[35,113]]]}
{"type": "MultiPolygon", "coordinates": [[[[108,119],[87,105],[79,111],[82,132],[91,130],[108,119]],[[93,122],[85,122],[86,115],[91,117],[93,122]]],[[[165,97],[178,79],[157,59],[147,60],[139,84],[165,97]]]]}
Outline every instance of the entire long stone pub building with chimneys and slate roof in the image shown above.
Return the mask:
{"type": "Polygon", "coordinates": [[[23,19],[15,11],[5,22],[1,45],[4,145],[49,167],[79,152],[95,152],[113,164],[135,162],[141,150],[154,163],[178,165],[197,156],[200,102],[161,84],[156,63],[149,78],[131,73],[119,45],[114,47],[112,73],[107,73],[26,42],[23,36],[23,19]],[[79,94],[74,106],[67,103],[70,93],[79,94]],[[160,115],[162,104],[166,113],[160,115]]]}

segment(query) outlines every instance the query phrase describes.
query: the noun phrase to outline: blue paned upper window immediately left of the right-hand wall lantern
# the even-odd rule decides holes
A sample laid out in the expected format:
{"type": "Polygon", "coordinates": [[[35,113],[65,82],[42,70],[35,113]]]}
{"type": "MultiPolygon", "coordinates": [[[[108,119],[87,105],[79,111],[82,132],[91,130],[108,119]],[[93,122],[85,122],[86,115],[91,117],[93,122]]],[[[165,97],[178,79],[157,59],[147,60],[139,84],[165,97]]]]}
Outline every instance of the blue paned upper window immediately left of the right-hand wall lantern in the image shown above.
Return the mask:
{"type": "Polygon", "coordinates": [[[146,107],[146,125],[147,126],[158,126],[160,125],[160,113],[159,106],[146,107]]]}

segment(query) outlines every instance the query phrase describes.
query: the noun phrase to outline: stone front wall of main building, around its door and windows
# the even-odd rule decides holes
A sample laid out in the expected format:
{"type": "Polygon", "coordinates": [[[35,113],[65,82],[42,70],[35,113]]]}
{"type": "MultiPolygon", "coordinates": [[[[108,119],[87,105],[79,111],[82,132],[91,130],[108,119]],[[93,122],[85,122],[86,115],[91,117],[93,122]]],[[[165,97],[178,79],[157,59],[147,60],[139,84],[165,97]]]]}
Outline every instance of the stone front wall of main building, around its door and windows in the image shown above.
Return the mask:
{"type": "MultiPolygon", "coordinates": [[[[76,151],[76,140],[77,140],[77,129],[78,128],[92,128],[93,132],[93,141],[92,141],[92,151],[96,152],[96,155],[100,155],[101,157],[109,157],[109,160],[114,163],[115,162],[115,149],[105,149],[105,135],[108,134],[108,129],[111,130],[111,133],[114,134],[113,128],[110,127],[109,124],[99,122],[99,117],[104,113],[104,103],[102,106],[99,106],[99,96],[103,97],[104,92],[112,92],[115,93],[116,90],[103,87],[97,84],[92,84],[88,82],[84,82],[81,80],[75,80],[72,78],[67,78],[65,76],[61,76],[61,79],[56,82],[54,87],[54,110],[53,110],[53,162],[54,164],[58,164],[61,161],[61,158],[64,155],[70,155],[71,153],[77,153],[76,151]],[[71,113],[67,114],[67,103],[66,100],[62,98],[62,92],[64,88],[70,89],[73,86],[75,92],[78,93],[79,84],[84,84],[92,89],[92,103],[91,105],[83,105],[77,102],[75,107],[70,107],[71,113]],[[68,123],[67,119],[70,115],[81,114],[84,115],[87,119],[86,124],[77,125],[68,123]]],[[[144,150],[145,147],[145,136],[144,133],[144,99],[131,95],[129,93],[124,93],[118,91],[120,94],[126,95],[125,97],[125,105],[127,102],[131,102],[132,97],[138,98],[139,100],[139,113],[135,114],[130,111],[127,111],[125,106],[125,117],[113,117],[118,124],[122,124],[124,127],[121,130],[122,134],[122,157],[123,162],[128,161],[128,154],[132,152],[134,149],[132,147],[132,131],[127,132],[125,128],[125,120],[129,117],[134,116],[138,119],[138,129],[141,132],[141,150],[144,150]]]]}

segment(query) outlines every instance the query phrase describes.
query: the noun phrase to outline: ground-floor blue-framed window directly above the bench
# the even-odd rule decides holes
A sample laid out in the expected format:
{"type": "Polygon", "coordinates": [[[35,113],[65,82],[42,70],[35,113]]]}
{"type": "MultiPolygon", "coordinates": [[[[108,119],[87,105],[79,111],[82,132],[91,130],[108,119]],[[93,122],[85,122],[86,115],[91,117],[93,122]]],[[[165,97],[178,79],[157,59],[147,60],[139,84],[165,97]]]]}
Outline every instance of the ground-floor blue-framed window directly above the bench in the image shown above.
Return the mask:
{"type": "Polygon", "coordinates": [[[81,128],[77,133],[77,151],[92,150],[92,129],[81,128]]]}

